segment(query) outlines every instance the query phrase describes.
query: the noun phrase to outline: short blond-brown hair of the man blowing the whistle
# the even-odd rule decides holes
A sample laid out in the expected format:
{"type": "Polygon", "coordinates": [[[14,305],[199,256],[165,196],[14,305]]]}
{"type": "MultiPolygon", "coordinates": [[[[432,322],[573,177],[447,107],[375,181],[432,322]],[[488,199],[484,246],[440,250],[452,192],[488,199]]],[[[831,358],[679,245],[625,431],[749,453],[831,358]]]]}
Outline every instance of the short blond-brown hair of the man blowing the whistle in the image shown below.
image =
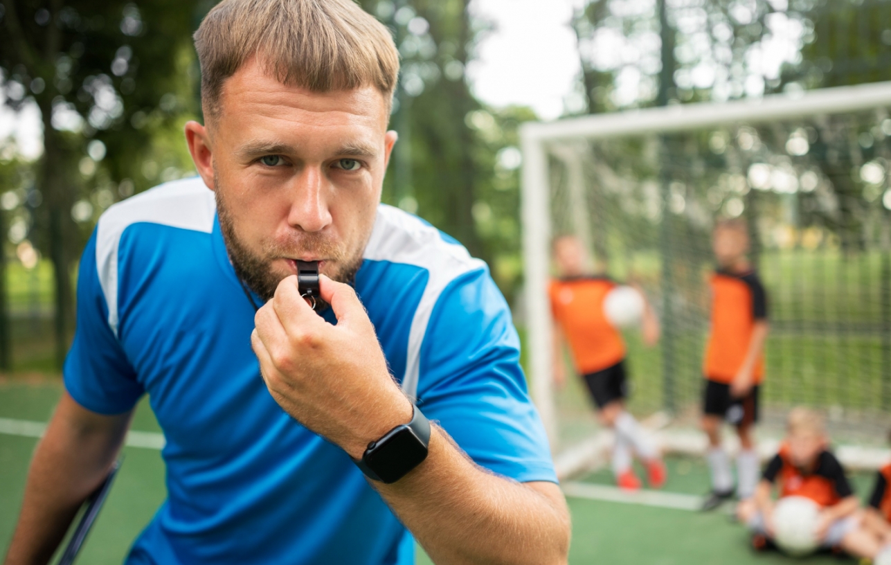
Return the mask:
{"type": "Polygon", "coordinates": [[[210,116],[225,79],[254,56],[284,85],[317,93],[374,86],[388,106],[399,74],[388,29],[352,0],[224,0],[194,39],[210,116]]]}

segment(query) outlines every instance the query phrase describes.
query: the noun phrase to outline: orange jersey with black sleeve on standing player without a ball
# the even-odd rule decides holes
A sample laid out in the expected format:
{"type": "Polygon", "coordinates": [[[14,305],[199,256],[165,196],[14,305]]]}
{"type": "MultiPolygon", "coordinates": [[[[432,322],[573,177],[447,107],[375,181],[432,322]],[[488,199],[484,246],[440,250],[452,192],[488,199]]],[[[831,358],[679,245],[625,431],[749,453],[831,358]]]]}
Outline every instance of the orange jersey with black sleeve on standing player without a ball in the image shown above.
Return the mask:
{"type": "MultiPolygon", "coordinates": [[[[709,381],[729,383],[748,353],[756,321],[767,319],[767,295],[754,271],[716,271],[708,281],[712,294],[711,332],[703,371],[709,381]]],[[[764,356],[755,365],[755,384],[764,377],[764,356]]]]}

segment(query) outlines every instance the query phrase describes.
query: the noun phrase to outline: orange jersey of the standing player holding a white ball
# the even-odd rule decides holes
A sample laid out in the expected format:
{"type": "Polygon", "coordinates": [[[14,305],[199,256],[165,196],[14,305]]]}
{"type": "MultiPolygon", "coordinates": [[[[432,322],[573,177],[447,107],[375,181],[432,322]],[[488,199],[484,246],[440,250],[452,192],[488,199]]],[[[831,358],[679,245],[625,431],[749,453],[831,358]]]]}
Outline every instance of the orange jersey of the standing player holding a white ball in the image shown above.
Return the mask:
{"type": "Polygon", "coordinates": [[[596,373],[625,359],[622,334],[603,313],[603,300],[616,286],[605,276],[580,276],[554,280],[548,289],[554,320],[569,342],[580,374],[596,373]]]}

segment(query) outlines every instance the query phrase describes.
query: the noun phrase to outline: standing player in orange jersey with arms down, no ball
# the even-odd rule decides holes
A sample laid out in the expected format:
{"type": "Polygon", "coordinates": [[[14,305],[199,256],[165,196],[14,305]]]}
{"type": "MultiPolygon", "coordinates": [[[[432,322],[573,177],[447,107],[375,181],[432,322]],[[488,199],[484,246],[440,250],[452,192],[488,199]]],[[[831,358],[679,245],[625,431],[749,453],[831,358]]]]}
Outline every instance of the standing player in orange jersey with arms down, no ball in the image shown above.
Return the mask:
{"type": "Polygon", "coordinates": [[[708,435],[712,492],[703,510],[713,510],[733,495],[730,458],[721,446],[723,422],[740,437],[737,490],[740,500],[755,493],[758,458],[752,428],[758,419],[758,392],[764,377],[767,297],[746,255],[748,227],[740,219],[724,220],[712,234],[718,268],[709,279],[711,332],[704,366],[702,429],[708,435]]]}

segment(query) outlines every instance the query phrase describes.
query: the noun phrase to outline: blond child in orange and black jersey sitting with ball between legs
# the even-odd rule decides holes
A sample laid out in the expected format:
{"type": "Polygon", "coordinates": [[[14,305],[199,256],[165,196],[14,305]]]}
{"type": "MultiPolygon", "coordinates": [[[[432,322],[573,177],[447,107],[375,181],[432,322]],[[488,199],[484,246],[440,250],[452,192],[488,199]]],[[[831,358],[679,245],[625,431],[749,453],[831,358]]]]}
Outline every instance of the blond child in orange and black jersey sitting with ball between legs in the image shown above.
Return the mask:
{"type": "Polygon", "coordinates": [[[856,557],[872,558],[881,545],[860,528],[860,501],[845,470],[829,451],[822,418],[806,408],[789,413],[787,435],[764,470],[755,496],[737,508],[741,522],[752,529],[752,545],[764,549],[774,532],[772,488],[780,497],[804,496],[821,507],[817,538],[824,548],[840,548],[856,557]]]}

